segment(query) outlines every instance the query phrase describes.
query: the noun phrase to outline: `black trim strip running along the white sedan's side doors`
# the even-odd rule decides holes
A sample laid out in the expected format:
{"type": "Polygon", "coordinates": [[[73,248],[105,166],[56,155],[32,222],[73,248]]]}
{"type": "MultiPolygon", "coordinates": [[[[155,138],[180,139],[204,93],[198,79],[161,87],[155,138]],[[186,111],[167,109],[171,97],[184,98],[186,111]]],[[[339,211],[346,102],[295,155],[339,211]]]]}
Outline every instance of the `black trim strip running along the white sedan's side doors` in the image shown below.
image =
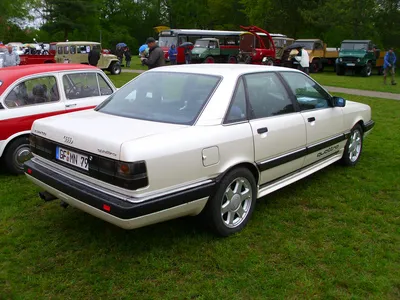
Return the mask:
{"type": "Polygon", "coordinates": [[[259,169],[260,172],[275,168],[277,166],[286,164],[288,162],[291,162],[293,160],[299,159],[303,156],[306,156],[308,154],[317,152],[319,150],[325,149],[329,146],[335,145],[337,143],[340,143],[344,140],[346,140],[348,138],[348,134],[342,134],[334,139],[331,140],[327,140],[326,142],[323,142],[321,144],[317,144],[311,147],[306,147],[304,148],[304,150],[300,150],[298,152],[294,152],[294,153],[290,153],[288,155],[276,158],[276,159],[272,159],[272,160],[268,160],[265,162],[260,162],[257,163],[257,167],[259,169]]]}

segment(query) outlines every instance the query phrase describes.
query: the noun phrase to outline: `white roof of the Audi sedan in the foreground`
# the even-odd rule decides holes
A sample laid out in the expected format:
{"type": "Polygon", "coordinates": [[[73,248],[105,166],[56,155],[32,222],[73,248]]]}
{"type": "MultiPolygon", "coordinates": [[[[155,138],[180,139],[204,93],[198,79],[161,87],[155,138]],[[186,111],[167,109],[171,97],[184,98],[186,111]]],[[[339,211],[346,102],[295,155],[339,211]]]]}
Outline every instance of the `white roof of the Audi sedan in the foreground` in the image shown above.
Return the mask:
{"type": "Polygon", "coordinates": [[[291,68],[251,65],[251,64],[187,64],[165,66],[151,69],[148,72],[183,72],[192,74],[216,75],[223,77],[238,77],[248,73],[273,72],[273,71],[293,71],[300,72],[291,68]]]}

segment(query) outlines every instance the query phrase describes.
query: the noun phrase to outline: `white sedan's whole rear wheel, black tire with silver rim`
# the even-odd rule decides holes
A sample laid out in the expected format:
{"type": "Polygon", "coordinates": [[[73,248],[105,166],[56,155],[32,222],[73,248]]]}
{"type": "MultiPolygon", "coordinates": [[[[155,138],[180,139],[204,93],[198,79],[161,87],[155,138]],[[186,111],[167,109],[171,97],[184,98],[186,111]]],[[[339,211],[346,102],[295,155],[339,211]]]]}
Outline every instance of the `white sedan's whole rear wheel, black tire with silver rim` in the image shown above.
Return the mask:
{"type": "Polygon", "coordinates": [[[227,173],[205,208],[205,221],[219,236],[241,231],[249,222],[257,200],[254,175],[246,168],[227,173]],[[240,216],[241,215],[241,216],[240,216]]]}

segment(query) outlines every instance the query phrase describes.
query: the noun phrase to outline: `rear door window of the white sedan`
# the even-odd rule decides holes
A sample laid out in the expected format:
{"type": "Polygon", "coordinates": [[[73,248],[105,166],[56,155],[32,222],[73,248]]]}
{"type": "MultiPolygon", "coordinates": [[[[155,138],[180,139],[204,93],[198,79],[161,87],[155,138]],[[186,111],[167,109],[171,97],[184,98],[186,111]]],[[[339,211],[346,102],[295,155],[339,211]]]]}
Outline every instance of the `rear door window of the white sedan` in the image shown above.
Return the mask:
{"type": "Polygon", "coordinates": [[[293,103],[275,73],[245,76],[252,117],[272,117],[294,112],[293,103]]]}

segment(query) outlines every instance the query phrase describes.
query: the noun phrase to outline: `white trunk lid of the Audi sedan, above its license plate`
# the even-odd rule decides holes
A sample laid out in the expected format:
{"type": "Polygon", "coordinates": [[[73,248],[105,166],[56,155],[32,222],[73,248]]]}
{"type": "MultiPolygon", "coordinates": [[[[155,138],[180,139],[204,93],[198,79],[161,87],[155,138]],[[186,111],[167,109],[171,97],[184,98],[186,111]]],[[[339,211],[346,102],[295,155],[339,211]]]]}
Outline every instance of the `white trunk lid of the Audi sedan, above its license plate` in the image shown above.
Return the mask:
{"type": "Polygon", "coordinates": [[[119,160],[125,142],[186,127],[86,110],[36,120],[32,133],[60,145],[119,160]]]}

